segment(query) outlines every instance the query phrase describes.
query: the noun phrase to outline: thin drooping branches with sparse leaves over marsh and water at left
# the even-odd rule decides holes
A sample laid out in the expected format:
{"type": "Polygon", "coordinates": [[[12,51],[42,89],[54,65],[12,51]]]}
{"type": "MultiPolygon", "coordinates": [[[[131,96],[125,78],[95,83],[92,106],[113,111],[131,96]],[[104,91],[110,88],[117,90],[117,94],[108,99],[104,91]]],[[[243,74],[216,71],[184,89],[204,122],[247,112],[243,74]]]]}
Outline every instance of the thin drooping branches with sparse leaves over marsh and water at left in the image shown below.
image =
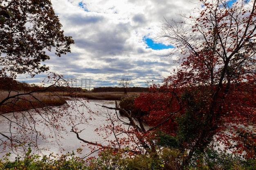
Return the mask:
{"type": "MultiPolygon", "coordinates": [[[[51,85],[38,87],[33,91],[9,89],[0,92],[0,119],[1,124],[6,125],[0,130],[1,148],[17,150],[19,146],[19,149],[25,151],[29,146],[38,150],[38,141],[48,139],[60,144],[58,139],[62,138],[63,133],[67,133],[67,125],[84,122],[84,115],[79,112],[79,106],[87,107],[85,102],[79,103],[78,106],[76,102],[67,103],[68,97],[63,98],[64,93],[69,93],[68,82],[56,74],[49,75],[43,81],[46,82],[51,85]],[[50,101],[49,98],[54,102],[47,102],[50,101]],[[58,103],[58,107],[54,107],[54,103],[58,103]],[[70,107],[78,114],[70,113],[70,107]]],[[[75,94],[70,96],[72,100],[76,100],[75,94]]]]}

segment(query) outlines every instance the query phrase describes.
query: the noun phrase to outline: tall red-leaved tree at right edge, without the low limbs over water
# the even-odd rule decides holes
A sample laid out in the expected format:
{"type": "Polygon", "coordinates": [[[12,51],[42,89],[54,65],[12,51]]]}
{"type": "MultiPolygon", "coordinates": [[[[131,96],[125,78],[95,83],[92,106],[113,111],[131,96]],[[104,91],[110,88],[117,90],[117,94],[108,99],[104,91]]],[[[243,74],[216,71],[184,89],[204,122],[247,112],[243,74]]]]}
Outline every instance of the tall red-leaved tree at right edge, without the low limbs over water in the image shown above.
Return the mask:
{"type": "Polygon", "coordinates": [[[256,157],[255,8],[255,0],[200,0],[190,15],[162,24],[160,37],[176,45],[170,55],[181,66],[135,105],[149,112],[150,126],[180,140],[187,161],[214,139],[256,157]]]}

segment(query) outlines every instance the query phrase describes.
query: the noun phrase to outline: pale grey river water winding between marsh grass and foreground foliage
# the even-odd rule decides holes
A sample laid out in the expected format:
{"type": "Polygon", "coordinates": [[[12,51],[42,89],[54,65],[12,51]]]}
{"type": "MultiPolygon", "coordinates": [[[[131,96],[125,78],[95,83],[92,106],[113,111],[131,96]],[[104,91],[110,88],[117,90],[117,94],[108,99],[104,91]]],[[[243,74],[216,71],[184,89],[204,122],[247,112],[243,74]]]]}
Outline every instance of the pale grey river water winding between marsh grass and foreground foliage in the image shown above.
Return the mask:
{"type": "MultiPolygon", "coordinates": [[[[128,128],[128,125],[124,125],[122,122],[117,120],[117,116],[115,113],[115,110],[109,110],[107,108],[103,108],[101,106],[108,106],[108,107],[115,107],[115,101],[108,101],[108,100],[90,100],[89,103],[85,101],[77,102],[76,105],[73,106],[79,106],[82,103],[85,103],[85,106],[81,107],[72,107],[72,103],[75,101],[69,101],[68,104],[70,107],[67,108],[67,112],[71,115],[79,115],[78,113],[84,113],[83,117],[81,119],[77,119],[74,124],[70,124],[69,122],[65,121],[65,119],[59,119],[59,123],[63,123],[63,126],[65,127],[66,131],[62,131],[61,133],[55,132],[55,135],[52,135],[54,131],[52,129],[49,129],[45,127],[44,124],[38,124],[36,125],[37,130],[42,132],[45,135],[45,139],[42,137],[37,138],[37,144],[38,148],[40,149],[40,152],[34,150],[34,154],[38,155],[49,155],[53,153],[53,155],[56,154],[65,154],[67,152],[76,151],[77,148],[81,148],[82,154],[77,154],[79,157],[85,157],[87,155],[91,154],[92,148],[90,148],[91,145],[87,145],[83,141],[80,141],[77,139],[76,134],[74,132],[71,132],[72,126],[76,127],[81,132],[79,133],[79,136],[90,142],[97,142],[98,144],[101,144],[103,146],[106,146],[109,144],[109,141],[115,141],[115,136],[113,135],[113,132],[109,128],[106,128],[108,125],[112,124],[112,122],[115,122],[115,126],[122,126],[123,128],[128,128]],[[90,112],[92,111],[92,112],[90,112]],[[95,131],[97,128],[100,128],[101,130],[95,131]],[[52,137],[53,136],[53,137],[52,137]]],[[[58,109],[58,107],[56,107],[58,109]]],[[[32,117],[34,119],[41,118],[38,113],[32,113],[32,117]]],[[[19,113],[15,113],[19,114],[19,113]]],[[[13,120],[13,113],[4,114],[5,117],[7,117],[10,120],[13,120]]],[[[67,115],[66,115],[67,116],[67,115]]],[[[119,117],[121,117],[118,114],[119,117]]],[[[65,118],[65,117],[64,117],[65,118]]],[[[121,117],[123,121],[127,121],[126,117],[121,117]]],[[[39,121],[40,122],[40,121],[39,121]]],[[[8,132],[11,131],[15,133],[15,129],[13,127],[10,127],[9,121],[0,116],[0,133],[2,132],[8,132]]],[[[18,135],[18,134],[16,134],[18,135]]],[[[117,133],[116,133],[117,135],[117,133]]],[[[118,135],[119,138],[126,137],[124,134],[118,135]]],[[[0,135],[0,140],[5,140],[2,135],[0,135]]],[[[213,141],[213,144],[218,144],[216,150],[223,150],[224,146],[220,144],[218,141],[213,141]]],[[[128,146],[132,146],[132,141],[130,141],[130,144],[128,146]]],[[[3,155],[5,155],[8,152],[11,152],[11,157],[9,157],[10,160],[15,159],[17,155],[23,155],[24,154],[24,147],[22,146],[20,149],[16,148],[17,150],[11,150],[9,148],[4,149],[4,145],[0,145],[0,159],[3,155]],[[1,152],[2,151],[2,152],[1,152]]],[[[26,146],[28,147],[28,146],[26,146]]],[[[90,156],[96,156],[97,152],[93,152],[90,156]]]]}

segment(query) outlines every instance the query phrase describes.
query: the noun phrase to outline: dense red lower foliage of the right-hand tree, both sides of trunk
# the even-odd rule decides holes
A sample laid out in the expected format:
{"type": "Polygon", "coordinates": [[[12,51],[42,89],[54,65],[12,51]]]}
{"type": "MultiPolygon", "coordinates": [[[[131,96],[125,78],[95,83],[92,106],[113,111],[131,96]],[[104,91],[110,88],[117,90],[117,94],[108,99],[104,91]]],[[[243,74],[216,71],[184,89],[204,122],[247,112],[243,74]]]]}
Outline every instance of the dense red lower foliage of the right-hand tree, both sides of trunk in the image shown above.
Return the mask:
{"type": "Polygon", "coordinates": [[[186,124],[197,121],[201,127],[190,129],[193,130],[191,133],[200,134],[190,142],[211,140],[217,135],[218,141],[227,148],[234,148],[236,153],[246,151],[247,157],[255,157],[256,86],[246,82],[231,84],[229,91],[225,92],[227,84],[224,84],[213,105],[212,96],[216,89],[216,86],[173,88],[173,84],[155,85],[150,88],[150,93],[142,93],[135,99],[135,106],[148,113],[143,119],[149,126],[159,127],[173,136],[179,133],[177,119],[187,110],[192,110],[194,115],[186,124]],[[184,94],[190,94],[191,98],[184,94]]]}

